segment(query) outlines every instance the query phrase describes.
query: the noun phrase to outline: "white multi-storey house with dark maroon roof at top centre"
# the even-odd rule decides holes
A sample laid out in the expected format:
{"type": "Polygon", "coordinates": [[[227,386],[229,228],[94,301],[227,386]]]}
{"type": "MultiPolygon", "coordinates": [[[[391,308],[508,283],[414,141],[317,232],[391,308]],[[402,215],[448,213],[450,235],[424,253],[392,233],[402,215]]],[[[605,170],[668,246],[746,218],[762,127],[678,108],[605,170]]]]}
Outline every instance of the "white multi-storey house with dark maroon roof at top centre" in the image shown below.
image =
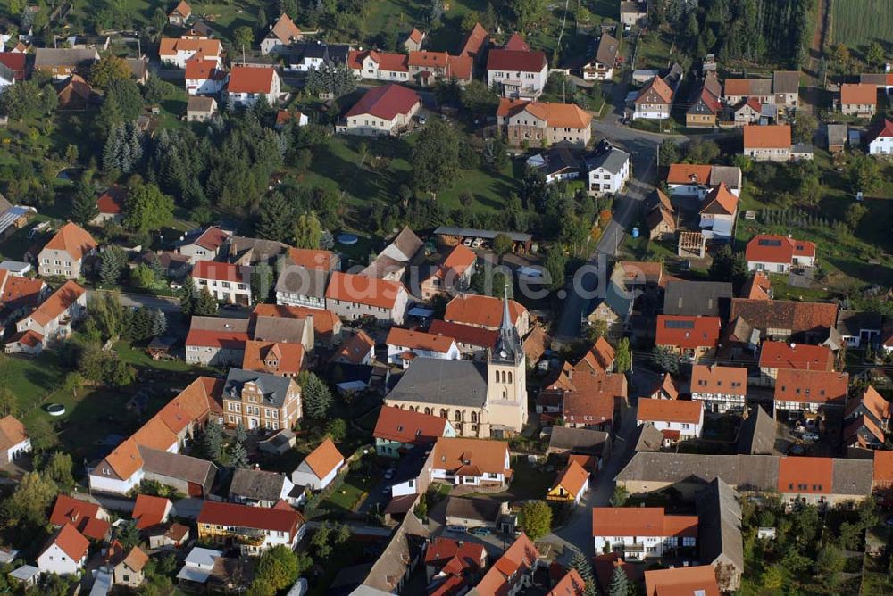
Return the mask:
{"type": "Polygon", "coordinates": [[[487,87],[503,97],[534,99],[548,79],[546,54],[540,51],[491,49],[487,54],[487,87]]]}

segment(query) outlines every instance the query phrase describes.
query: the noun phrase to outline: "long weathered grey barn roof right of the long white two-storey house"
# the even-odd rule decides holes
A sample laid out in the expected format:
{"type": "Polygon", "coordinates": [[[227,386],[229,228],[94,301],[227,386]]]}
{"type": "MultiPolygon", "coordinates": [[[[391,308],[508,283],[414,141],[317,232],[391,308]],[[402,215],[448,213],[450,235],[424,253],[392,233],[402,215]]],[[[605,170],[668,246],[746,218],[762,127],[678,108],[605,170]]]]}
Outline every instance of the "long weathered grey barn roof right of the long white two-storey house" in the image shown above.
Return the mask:
{"type": "Polygon", "coordinates": [[[697,494],[697,542],[701,559],[713,563],[722,557],[739,573],[744,571],[740,496],[721,478],[697,494]]]}

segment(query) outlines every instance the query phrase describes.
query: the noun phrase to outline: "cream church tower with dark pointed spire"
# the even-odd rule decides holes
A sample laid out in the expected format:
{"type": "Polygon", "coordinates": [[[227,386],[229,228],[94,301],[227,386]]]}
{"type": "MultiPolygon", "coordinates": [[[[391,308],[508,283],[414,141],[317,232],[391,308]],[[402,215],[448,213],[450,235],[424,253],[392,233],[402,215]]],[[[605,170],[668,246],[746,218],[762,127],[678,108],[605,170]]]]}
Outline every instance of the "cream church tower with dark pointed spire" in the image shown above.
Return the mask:
{"type": "Polygon", "coordinates": [[[521,432],[527,422],[527,359],[509,315],[507,292],[496,347],[487,354],[487,404],[491,433],[521,432]]]}

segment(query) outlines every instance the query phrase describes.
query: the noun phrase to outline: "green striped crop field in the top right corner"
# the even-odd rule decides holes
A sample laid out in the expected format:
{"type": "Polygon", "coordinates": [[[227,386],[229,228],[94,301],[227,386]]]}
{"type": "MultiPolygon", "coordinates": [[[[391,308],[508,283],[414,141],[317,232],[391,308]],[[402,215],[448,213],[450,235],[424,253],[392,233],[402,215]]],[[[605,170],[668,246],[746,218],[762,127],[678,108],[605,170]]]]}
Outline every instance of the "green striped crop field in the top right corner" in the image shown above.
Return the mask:
{"type": "Polygon", "coordinates": [[[831,42],[864,49],[872,41],[889,44],[893,31],[893,2],[889,0],[831,0],[831,42]]]}

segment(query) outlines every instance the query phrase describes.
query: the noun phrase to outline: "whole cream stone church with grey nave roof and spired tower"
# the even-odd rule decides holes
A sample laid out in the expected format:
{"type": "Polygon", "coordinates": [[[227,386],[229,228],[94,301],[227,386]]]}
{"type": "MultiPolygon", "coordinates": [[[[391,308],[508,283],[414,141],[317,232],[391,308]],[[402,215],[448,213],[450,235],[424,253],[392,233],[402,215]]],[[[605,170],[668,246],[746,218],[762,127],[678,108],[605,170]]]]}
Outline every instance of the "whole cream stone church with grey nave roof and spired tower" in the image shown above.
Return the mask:
{"type": "Polygon", "coordinates": [[[447,418],[460,436],[505,438],[527,422],[527,365],[503,298],[499,339],[486,362],[419,358],[385,404],[447,418]]]}

